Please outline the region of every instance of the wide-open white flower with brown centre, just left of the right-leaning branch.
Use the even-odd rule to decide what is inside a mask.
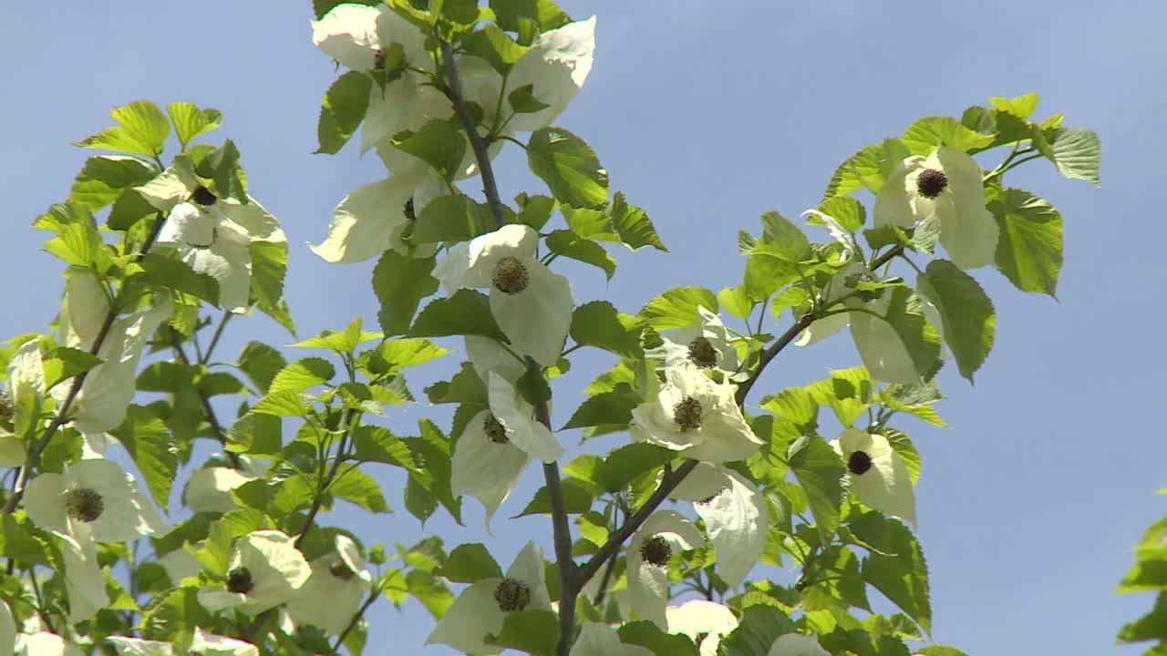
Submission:
[[[692,363],[665,368],[665,384],[633,410],[633,439],[705,462],[753,455],[762,440],[734,400],[734,385],[710,381]]]

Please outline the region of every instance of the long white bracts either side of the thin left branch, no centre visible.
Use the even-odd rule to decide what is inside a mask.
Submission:
[[[70,267],[69,281],[61,301],[58,330],[61,344],[92,350],[109,312],[106,291],[91,270]],[[149,309],[142,309],[113,321],[97,356],[103,360],[85,376],[81,393],[74,400],[72,425],[86,435],[112,431],[126,418],[126,407],[134,396],[138,361],[146,343],[170,316],[172,301],[165,298]],[[60,403],[72,382],[53,388]]]

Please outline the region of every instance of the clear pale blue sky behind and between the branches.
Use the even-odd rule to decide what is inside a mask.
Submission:
[[[993,353],[976,386],[955,371],[942,375],[949,398],[937,409],[951,428],[900,426],[923,456],[918,535],[938,642],[974,656],[1138,652],[1113,647],[1113,636],[1152,598],[1112,591],[1144,528],[1167,511],[1167,497],[1153,494],[1167,486],[1159,414],[1167,354],[1159,196],[1167,5],[573,0],[565,7],[576,19],[599,14],[599,26],[592,77],[558,123],[596,149],[613,190],[643,207],[671,249],[617,252],[612,285],[598,270],[565,268],[578,302],[608,298],[635,312],[673,286],[735,284],[739,229],[756,232],[757,216],[769,209],[796,217],[815,207],[839,162],[917,117],[959,116],[990,96],[1037,91],[1039,117],[1064,112],[1068,126],[1098,131],[1100,189],[1063,180],[1044,161],[1008,176],[1009,186],[1048,197],[1063,214],[1060,302],[978,271],[997,306]],[[56,312],[63,266],[28,224],[67,197],[93,154],[69,142],[105,127],[113,105],[139,98],[224,112],[210,139],[237,142],[252,195],[288,233],[287,289],[301,339],[357,315],[376,326],[373,263],[327,265],[305,246],[324,237],[347,191],[384,176],[379,161],[359,159],[355,147],[310,154],[320,96],[335,75],[312,46],[310,13],[307,0],[6,4],[0,274],[8,309],[0,334],[44,329]],[[516,151],[497,160],[504,197],[539,189]],[[256,316],[231,323],[219,356],[233,357],[250,339],[293,341]],[[587,357],[557,388],[560,424],[582,385],[609,364]],[[857,363],[845,336],[791,349],[752,400]],[[415,393],[448,370],[415,377]],[[421,405],[392,425],[408,430],[421,416],[448,425],[445,411]],[[576,437],[560,439],[574,446]],[[598,446],[619,444],[606,439]],[[414,542],[422,532],[400,503],[401,477],[387,468],[376,474],[397,514],[340,509],[322,522],[355,528],[366,542]],[[464,528],[439,517],[426,529],[448,546],[490,539],[504,565],[527,536],[543,535],[550,546],[546,519],[505,519],[538,479],[537,468],[527,472],[499,511],[494,538],[474,500],[464,503]],[[420,647],[432,624],[419,605],[403,610],[373,607],[369,654],[448,654]]]

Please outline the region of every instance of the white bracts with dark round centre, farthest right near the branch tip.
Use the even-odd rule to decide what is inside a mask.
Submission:
[[[980,166],[948,146],[903,160],[875,195],[875,225],[931,221],[939,222],[941,244],[953,264],[993,264],[999,229],[985,208]]]

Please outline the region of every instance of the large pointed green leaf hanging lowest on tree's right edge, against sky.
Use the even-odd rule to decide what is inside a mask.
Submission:
[[[931,630],[928,565],[915,536],[900,522],[879,512],[852,514],[847,526],[875,550],[864,560],[864,580],[883,593],[924,631]]]

